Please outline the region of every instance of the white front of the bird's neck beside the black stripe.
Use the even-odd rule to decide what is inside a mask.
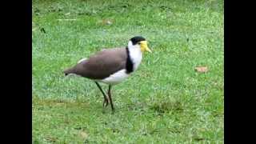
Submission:
[[[142,50],[140,46],[133,45],[132,42],[128,43],[130,52],[130,59],[134,63],[134,71],[138,69],[139,64],[142,62]]]

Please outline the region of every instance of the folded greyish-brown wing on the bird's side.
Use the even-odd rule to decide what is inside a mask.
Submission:
[[[72,69],[74,74],[91,79],[109,77],[118,70],[126,68],[126,49],[106,49],[94,54],[84,62],[78,63]]]

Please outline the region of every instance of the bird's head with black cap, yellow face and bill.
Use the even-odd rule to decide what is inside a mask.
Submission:
[[[140,49],[142,52],[148,51],[152,53],[150,48],[147,46],[146,39],[141,36],[136,36],[134,38],[130,38],[128,42],[129,48]]]

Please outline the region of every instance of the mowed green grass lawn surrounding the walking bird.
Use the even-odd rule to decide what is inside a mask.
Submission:
[[[223,143],[222,1],[34,0],[32,25],[34,143]],[[135,35],[153,54],[113,87],[114,114],[94,82],[62,74]]]

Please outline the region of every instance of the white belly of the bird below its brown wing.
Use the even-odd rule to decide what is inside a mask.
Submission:
[[[129,77],[129,74],[126,74],[126,70],[119,70],[118,72],[110,75],[110,77],[108,78],[104,78],[102,80],[96,80],[96,81],[104,82],[109,85],[115,85],[124,81],[128,77]]]

